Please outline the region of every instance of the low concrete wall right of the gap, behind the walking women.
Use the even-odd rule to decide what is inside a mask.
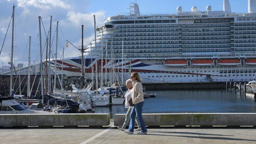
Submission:
[[[146,126],[256,126],[256,113],[142,114]],[[114,126],[122,126],[125,114],[114,115]]]

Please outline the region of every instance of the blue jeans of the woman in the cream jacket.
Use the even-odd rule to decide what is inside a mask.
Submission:
[[[132,107],[132,112],[130,115],[130,125],[129,125],[129,131],[134,131],[134,124],[135,124],[135,115],[138,117],[138,120],[140,121],[140,127],[141,132],[148,132],[146,125],[144,123],[144,120],[142,118],[142,106],[144,102],[139,102],[138,104],[135,104],[134,107]]]

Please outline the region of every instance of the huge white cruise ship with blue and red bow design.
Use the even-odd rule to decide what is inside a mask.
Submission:
[[[106,18],[96,31],[84,47],[88,79],[98,72],[112,83],[138,72],[142,82],[229,82],[250,81],[256,73],[256,0],[248,0],[247,13],[232,12],[223,0],[219,11],[178,6],[176,14],[141,14],[134,2],[129,13]],[[81,56],[56,62],[63,74],[81,76]]]

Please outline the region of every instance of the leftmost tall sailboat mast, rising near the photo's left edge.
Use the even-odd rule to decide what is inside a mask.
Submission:
[[[11,76],[10,76],[10,95],[12,95],[12,71],[13,71],[13,38],[14,38],[14,8],[12,7],[12,55],[11,55]]]

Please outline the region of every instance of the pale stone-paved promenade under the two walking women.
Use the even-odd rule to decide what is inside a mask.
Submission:
[[[115,127],[0,129],[0,144],[46,143],[256,144],[256,128],[148,128],[147,135],[128,135]]]

